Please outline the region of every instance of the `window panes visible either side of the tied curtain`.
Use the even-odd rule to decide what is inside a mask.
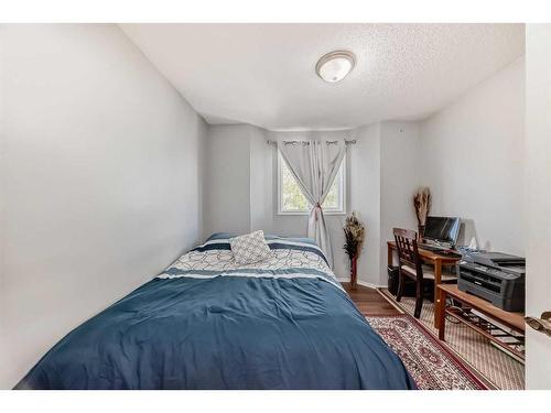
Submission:
[[[279,214],[281,215],[302,215],[310,214],[312,206],[296,184],[294,176],[289,171],[285,161],[278,153],[278,198]],[[322,207],[325,214],[346,214],[345,208],[345,171],[346,157],[343,159],[337,176],[331,186],[329,193],[325,198]]]

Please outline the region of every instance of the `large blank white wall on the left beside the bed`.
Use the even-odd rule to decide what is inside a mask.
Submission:
[[[199,238],[206,126],[114,25],[0,29],[0,387]]]

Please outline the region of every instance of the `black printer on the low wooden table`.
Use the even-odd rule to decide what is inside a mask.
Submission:
[[[508,312],[525,311],[526,259],[501,252],[464,251],[457,287]]]

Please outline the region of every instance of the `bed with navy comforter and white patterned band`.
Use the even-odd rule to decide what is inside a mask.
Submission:
[[[15,389],[414,389],[309,239],[217,233],[75,328]]]

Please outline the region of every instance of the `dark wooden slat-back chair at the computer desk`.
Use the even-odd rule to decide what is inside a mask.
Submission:
[[[423,261],[419,256],[417,244],[417,232],[411,229],[395,228],[395,240],[398,250],[399,262],[399,283],[396,301],[400,301],[403,295],[404,278],[409,278],[415,282],[415,311],[413,316],[421,316],[423,307],[423,289],[424,281],[432,280],[434,282],[434,272],[429,269],[423,269]],[[442,282],[455,282],[456,276],[451,274],[442,274]]]

